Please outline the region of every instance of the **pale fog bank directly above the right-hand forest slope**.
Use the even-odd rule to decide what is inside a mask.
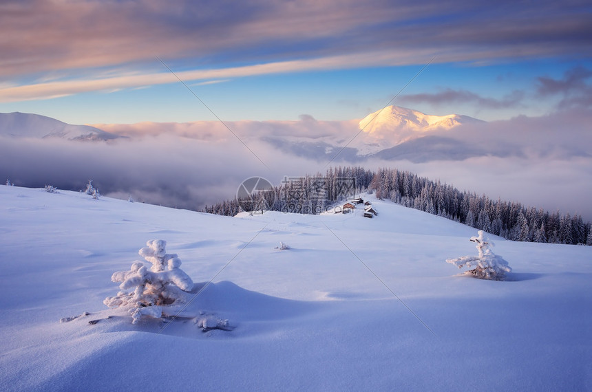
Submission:
[[[381,162],[385,167],[385,162]],[[462,161],[432,161],[412,164],[388,162],[391,166],[452,184],[491,199],[519,202],[550,212],[581,214],[592,221],[590,158],[533,160],[520,157],[470,157]]]

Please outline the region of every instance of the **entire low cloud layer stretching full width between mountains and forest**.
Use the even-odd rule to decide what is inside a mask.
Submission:
[[[591,121],[590,111],[570,110],[470,124],[400,144],[398,155],[362,159],[348,150],[332,165],[397,167],[494,199],[592,220]],[[219,122],[113,124],[101,128],[129,138],[83,143],[2,137],[0,177],[22,186],[70,189],[93,179],[106,195],[195,209],[233,198],[254,175],[279,184],[284,176],[323,173],[335,149],[357,132],[355,123],[310,116],[229,126],[257,157]]]

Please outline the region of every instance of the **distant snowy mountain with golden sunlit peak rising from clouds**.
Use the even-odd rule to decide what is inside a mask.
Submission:
[[[467,151],[458,151],[459,144],[453,140],[452,130],[470,126],[480,128],[487,122],[462,116],[447,114],[435,116],[412,109],[389,106],[368,114],[359,122],[317,122],[309,121],[306,130],[312,130],[315,137],[310,137],[302,129],[293,127],[294,132],[285,134],[262,135],[261,140],[271,144],[275,149],[315,160],[332,160],[339,153],[339,160],[361,162],[369,157],[385,160],[410,159],[413,162],[424,162],[431,159],[432,152],[440,159],[454,159],[456,155],[466,157]],[[461,127],[462,126],[462,127]],[[321,132],[320,130],[324,132]],[[316,131],[316,133],[315,133]],[[255,130],[253,130],[253,133]],[[320,136],[319,136],[320,135]],[[423,142],[430,139],[429,142]],[[409,144],[409,148],[407,147]],[[430,154],[416,150],[416,146],[426,144]],[[440,147],[445,147],[440,151]],[[476,149],[471,156],[478,155]],[[421,156],[416,156],[417,153]]]

